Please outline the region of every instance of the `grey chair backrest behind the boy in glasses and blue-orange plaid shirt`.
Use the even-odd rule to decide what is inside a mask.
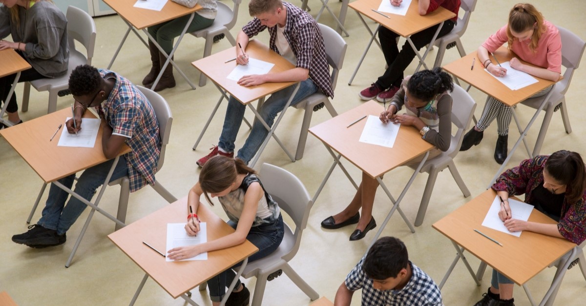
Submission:
[[[165,149],[169,143],[169,137],[171,135],[171,125],[173,124],[173,115],[171,114],[171,108],[160,94],[155,93],[148,88],[137,86],[138,89],[145,95],[147,100],[151,103],[153,110],[155,111],[156,121],[159,121],[159,135],[161,137],[161,155],[159,155],[159,162],[156,165],[156,171],[158,172],[163,166],[165,161]]]

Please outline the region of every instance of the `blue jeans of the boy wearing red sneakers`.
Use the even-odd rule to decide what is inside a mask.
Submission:
[[[297,87],[297,84],[271,94],[271,97],[265,101],[260,110],[257,110],[258,114],[261,115],[269,127],[272,127],[272,123],[275,120],[275,117],[277,117],[277,114],[285,108],[285,104],[287,104],[295,87]],[[311,79],[302,81],[297,94],[295,94],[295,97],[291,101],[291,106],[301,102],[304,98],[316,91],[318,91],[318,87],[315,85],[314,81]],[[240,103],[236,98],[230,97],[230,100],[228,100],[228,108],[226,110],[226,118],[224,118],[222,135],[220,135],[220,141],[218,142],[218,146],[226,152],[234,151],[234,141],[236,141],[236,136],[240,130],[245,110],[246,106],[244,104]],[[250,159],[253,159],[261,144],[263,144],[267,135],[268,130],[255,118],[250,135],[246,138],[244,146],[238,151],[237,157],[248,164]]]

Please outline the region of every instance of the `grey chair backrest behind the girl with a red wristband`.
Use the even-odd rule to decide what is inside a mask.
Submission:
[[[260,168],[260,179],[265,191],[277,201],[282,211],[286,212],[295,223],[295,245],[291,251],[282,256],[284,260],[291,260],[301,243],[301,233],[307,226],[309,211],[313,206],[311,196],[297,176],[291,172],[271,164],[263,164]]]

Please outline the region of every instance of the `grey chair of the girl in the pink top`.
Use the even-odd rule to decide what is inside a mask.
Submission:
[[[572,132],[570,118],[568,118],[568,110],[566,109],[565,92],[568,90],[568,87],[570,87],[574,70],[578,69],[578,66],[580,65],[580,60],[584,54],[586,43],[567,29],[561,28],[560,26],[558,26],[557,29],[560,31],[561,36],[561,64],[565,67],[564,79],[556,83],[556,86],[552,89],[553,93],[551,93],[550,99],[546,101],[547,104],[543,107],[543,110],[546,111],[546,115],[543,117],[543,123],[541,123],[539,135],[537,136],[537,141],[533,148],[533,156],[539,155],[539,151],[541,151],[541,145],[546,137],[551,116],[553,116],[557,106],[559,106],[561,110],[561,120],[564,122],[565,132],[568,134]],[[529,98],[523,101],[522,104],[537,109],[541,106],[543,99],[546,97],[547,95],[543,97]]]

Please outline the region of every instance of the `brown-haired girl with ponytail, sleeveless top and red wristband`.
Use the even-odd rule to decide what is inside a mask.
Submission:
[[[261,259],[277,250],[284,235],[281,211],[277,202],[264,191],[255,171],[243,161],[217,155],[203,166],[199,181],[189,191],[188,196],[188,222],[185,231],[191,236],[199,232],[199,219],[191,212],[197,212],[202,194],[210,205],[213,205],[211,198],[218,198],[230,219],[228,224],[236,232],[197,246],[171,249],[168,254],[170,259],[188,259],[207,251],[236,246],[245,240],[258,247],[258,252],[248,257],[249,261]],[[240,263],[232,268],[238,266]],[[212,305],[220,305],[226,294],[226,287],[236,277],[232,268],[207,281]],[[249,298],[250,292],[238,281],[226,305],[248,305]]]

